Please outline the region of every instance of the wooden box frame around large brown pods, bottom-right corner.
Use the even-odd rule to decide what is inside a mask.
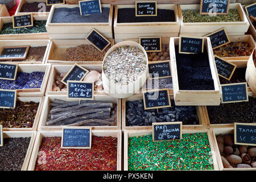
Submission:
[[[220,171],[256,171],[256,168],[224,168],[222,160],[221,160],[221,155],[220,155],[220,150],[218,149],[218,144],[217,144],[217,139],[216,135],[225,135],[225,134],[234,134],[234,127],[230,128],[223,128],[223,129],[210,129],[210,135],[212,135],[212,140],[216,152],[216,157],[218,161],[218,168]]]

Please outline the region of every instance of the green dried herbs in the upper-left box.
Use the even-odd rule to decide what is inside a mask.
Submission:
[[[46,21],[34,21],[33,27],[13,28],[13,23],[5,23],[0,34],[34,34],[46,32]]]

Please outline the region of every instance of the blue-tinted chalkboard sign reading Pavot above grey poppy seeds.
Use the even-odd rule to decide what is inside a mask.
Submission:
[[[79,1],[80,15],[90,15],[94,13],[101,13],[100,0],[85,0]]]

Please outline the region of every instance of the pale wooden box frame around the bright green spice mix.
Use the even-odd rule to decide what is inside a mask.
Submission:
[[[212,152],[212,159],[213,159],[213,168],[214,171],[218,171],[218,163],[216,158],[216,152],[214,150],[213,140],[210,135],[209,130],[207,129],[197,129],[197,130],[182,130],[183,134],[187,133],[207,133],[208,140],[210,144],[210,151]],[[128,171],[128,138],[130,137],[139,137],[142,135],[152,135],[152,130],[140,130],[140,131],[129,131],[125,130],[123,134],[123,170]]]

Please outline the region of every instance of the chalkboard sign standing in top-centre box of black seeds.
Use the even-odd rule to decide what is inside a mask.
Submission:
[[[156,1],[135,2],[135,16],[157,16],[158,6]]]

